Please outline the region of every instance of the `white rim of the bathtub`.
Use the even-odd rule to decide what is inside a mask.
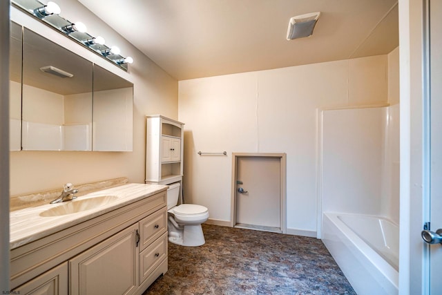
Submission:
[[[387,280],[398,289],[399,285],[399,272],[390,265],[385,259],[383,259],[372,247],[369,247],[367,243],[358,236],[352,229],[350,229],[343,220],[340,220],[338,216],[347,215],[347,216],[365,216],[372,218],[382,218],[384,220],[389,220],[384,216],[374,216],[368,214],[356,214],[356,213],[343,213],[343,212],[323,212],[323,222],[325,222],[325,218],[328,218],[330,222],[332,222],[340,231],[341,234],[347,238],[347,241],[352,244],[352,246],[356,247],[361,251],[361,254],[369,260],[370,263],[378,272],[380,272]],[[389,220],[394,225],[397,225],[392,220]],[[324,236],[324,233],[323,233]],[[323,239],[323,236],[321,239]],[[337,261],[336,261],[337,262]]]

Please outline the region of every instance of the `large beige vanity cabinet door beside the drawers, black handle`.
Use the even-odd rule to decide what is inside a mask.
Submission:
[[[138,287],[136,231],[132,225],[69,260],[70,294],[132,294]]]

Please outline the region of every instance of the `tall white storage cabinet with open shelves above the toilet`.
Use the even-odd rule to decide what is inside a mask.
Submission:
[[[146,116],[146,183],[182,184],[183,144],[184,123]]]

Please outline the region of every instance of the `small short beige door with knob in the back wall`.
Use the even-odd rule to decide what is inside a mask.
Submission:
[[[238,157],[236,227],[281,232],[280,158]]]

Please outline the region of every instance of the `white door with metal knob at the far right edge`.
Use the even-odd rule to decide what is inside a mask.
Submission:
[[[430,229],[442,236],[442,1],[430,1]],[[442,245],[430,245],[430,294],[442,294]]]

